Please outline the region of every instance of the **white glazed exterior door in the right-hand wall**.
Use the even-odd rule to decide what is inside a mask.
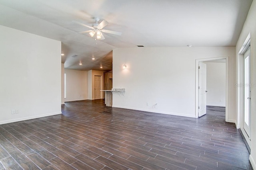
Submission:
[[[250,48],[244,53],[244,130],[250,139],[251,123]]]

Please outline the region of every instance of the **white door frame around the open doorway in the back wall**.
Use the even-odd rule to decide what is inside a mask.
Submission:
[[[215,57],[215,58],[207,58],[207,59],[196,59],[196,107],[195,107],[195,116],[198,118],[198,63],[203,61],[212,61],[212,60],[222,60],[226,59],[226,118],[225,121],[229,121],[229,108],[228,108],[228,56],[227,57]]]

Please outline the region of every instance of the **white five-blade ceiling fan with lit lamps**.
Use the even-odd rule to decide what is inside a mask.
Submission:
[[[91,37],[95,36],[95,40],[96,39],[101,39],[101,40],[105,39],[102,32],[115,34],[115,35],[121,35],[122,34],[121,32],[102,29],[103,27],[108,25],[107,21],[103,20],[101,23],[98,23],[98,21],[100,21],[100,18],[98,18],[98,17],[94,17],[94,20],[95,20],[95,23],[93,23],[92,26],[86,25],[86,24],[78,22],[78,21],[73,21],[73,22],[92,29],[92,30],[88,30],[88,31],[78,32],[78,33],[89,33]]]

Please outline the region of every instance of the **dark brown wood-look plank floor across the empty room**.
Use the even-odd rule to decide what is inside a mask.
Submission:
[[[195,119],[67,102],[62,115],[0,125],[0,169],[252,170],[224,111]]]

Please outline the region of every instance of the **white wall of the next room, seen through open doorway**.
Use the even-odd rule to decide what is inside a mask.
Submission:
[[[226,63],[206,63],[206,105],[226,106]]]

